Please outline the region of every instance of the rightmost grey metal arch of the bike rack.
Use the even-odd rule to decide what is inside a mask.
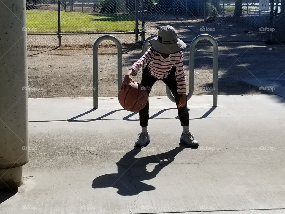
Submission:
[[[187,99],[189,100],[194,92],[194,60],[195,60],[195,46],[200,40],[209,40],[214,48],[213,53],[213,106],[218,105],[218,58],[219,58],[219,46],[214,37],[208,34],[201,34],[194,38],[190,46],[190,62],[189,62],[189,93]]]

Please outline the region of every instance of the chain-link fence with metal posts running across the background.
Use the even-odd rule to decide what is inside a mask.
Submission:
[[[285,0],[259,1],[27,0],[28,45],[92,45],[102,34],[135,43],[166,24],[187,42],[202,33],[221,42],[283,41]]]

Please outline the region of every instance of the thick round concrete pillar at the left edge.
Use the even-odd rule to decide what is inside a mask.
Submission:
[[[26,1],[0,1],[0,189],[21,184],[29,162]]]

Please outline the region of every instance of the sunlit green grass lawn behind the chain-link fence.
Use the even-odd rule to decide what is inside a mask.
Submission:
[[[27,10],[27,33],[57,33],[57,11]],[[60,12],[62,33],[134,31],[130,15]]]

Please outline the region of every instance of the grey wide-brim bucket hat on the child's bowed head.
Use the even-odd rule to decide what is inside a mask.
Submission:
[[[149,40],[151,47],[161,54],[175,54],[186,48],[186,44],[178,38],[174,27],[165,25],[159,28],[158,36]]]

